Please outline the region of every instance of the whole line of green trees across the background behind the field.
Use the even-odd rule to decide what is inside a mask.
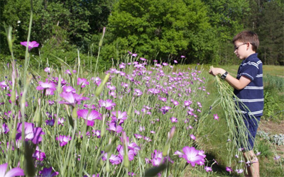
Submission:
[[[31,14],[30,0],[0,0],[1,55],[10,60],[5,28],[13,27],[14,52],[21,62]],[[186,63],[237,64],[231,39],[241,30],[258,33],[258,57],[284,64],[283,0],[33,0],[31,63],[58,64],[57,57],[91,63],[107,27],[99,67],[127,53],[147,59],[187,58]],[[92,61],[93,60],[93,61]]]

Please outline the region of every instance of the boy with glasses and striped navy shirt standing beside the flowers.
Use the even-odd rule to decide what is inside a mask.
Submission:
[[[222,68],[212,68],[209,74],[213,76],[221,74],[221,78],[234,87],[234,94],[249,108],[249,110],[241,108],[244,122],[251,133],[248,137],[249,148],[245,148],[246,152],[243,154],[246,161],[253,162],[251,166],[247,166],[248,174],[245,175],[259,176],[258,159],[252,150],[258,122],[263,115],[263,70],[262,62],[256,53],[259,45],[258,35],[245,30],[233,38],[233,43],[234,54],[243,60],[236,78]]]

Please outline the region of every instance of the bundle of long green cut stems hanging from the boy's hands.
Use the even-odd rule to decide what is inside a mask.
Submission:
[[[241,110],[240,108],[243,107],[246,108],[246,110],[249,109],[244,103],[239,101],[239,98],[237,98],[236,95],[234,95],[232,87],[226,81],[220,79],[219,76],[215,77],[215,85],[219,98],[214,102],[216,105],[212,105],[212,107],[214,108],[217,105],[221,105],[224,111],[226,125],[229,130],[228,143],[226,145],[230,154],[228,156],[228,161],[231,166],[232,156],[238,155],[239,157],[242,157],[243,151],[246,152],[246,149],[251,149],[250,144],[248,143],[248,138],[251,134],[246,128],[244,115],[241,113],[244,112],[244,110]],[[254,116],[250,116],[250,118],[256,119]],[[244,149],[244,147],[246,148]],[[239,163],[236,162],[236,164],[238,168]]]

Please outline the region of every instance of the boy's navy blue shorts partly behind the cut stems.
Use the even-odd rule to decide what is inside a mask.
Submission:
[[[248,147],[244,147],[244,151],[251,151],[253,149],[254,140],[256,138],[256,130],[258,129],[259,121],[261,120],[261,116],[259,117],[253,117],[249,116],[248,114],[243,114],[244,116],[244,124],[246,125],[246,128],[249,130],[248,135]]]

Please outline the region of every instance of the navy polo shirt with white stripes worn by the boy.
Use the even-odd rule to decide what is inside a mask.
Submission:
[[[257,53],[250,55],[241,62],[236,79],[240,79],[241,76],[251,79],[251,82],[244,89],[239,91],[234,89],[234,94],[239,98],[239,101],[246,105],[239,104],[241,113],[249,113],[249,115],[255,117],[263,115],[263,70],[262,62],[258,59]]]

